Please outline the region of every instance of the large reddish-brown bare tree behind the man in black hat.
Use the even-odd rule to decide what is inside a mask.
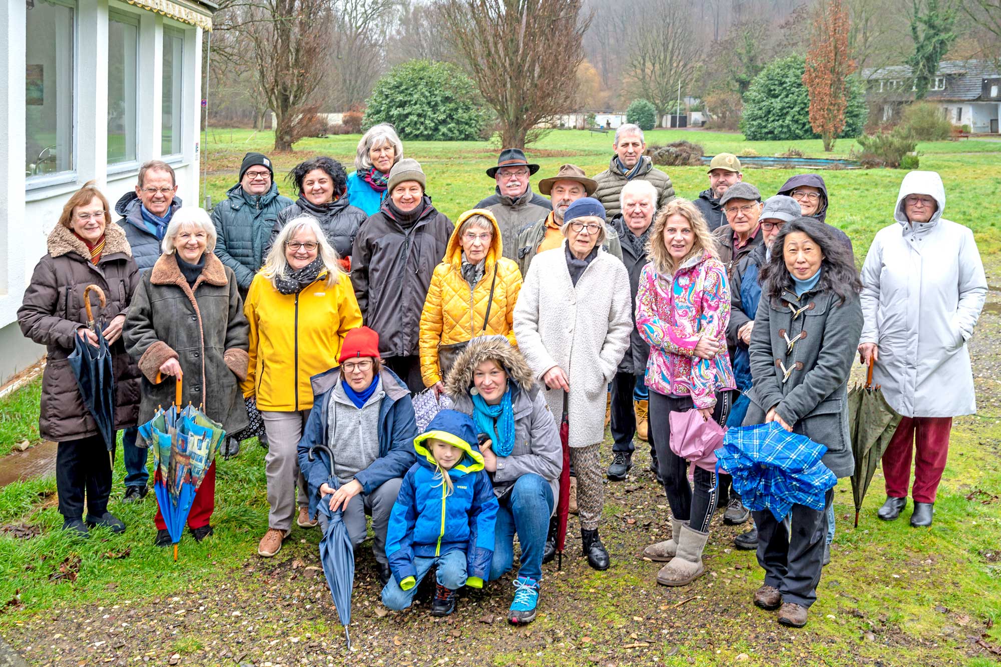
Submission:
[[[441,18],[505,146],[541,136],[540,123],[574,106],[591,17],[582,0],[443,0]]]

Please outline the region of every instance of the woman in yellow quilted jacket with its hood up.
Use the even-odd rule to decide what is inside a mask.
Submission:
[[[522,271],[502,252],[500,228],[492,213],[473,208],[458,216],[420,313],[418,348],[425,387],[443,392],[452,363],[478,336],[500,335],[516,345],[512,323]]]

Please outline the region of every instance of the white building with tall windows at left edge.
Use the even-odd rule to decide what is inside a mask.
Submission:
[[[169,162],[198,200],[208,0],[6,0],[0,6],[0,385],[44,349],[17,309],[63,203],[88,180],[114,202]],[[112,215],[112,219],[117,219]]]

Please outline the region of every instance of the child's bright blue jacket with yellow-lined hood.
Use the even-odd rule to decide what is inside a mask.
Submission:
[[[430,439],[465,453],[448,471],[450,495],[425,445]],[[481,588],[489,574],[498,505],[475,443],[472,418],[454,410],[439,412],[413,440],[417,463],[403,477],[385,540],[389,568],[403,590],[413,586],[414,557],[434,558],[461,550],[466,558],[466,586]]]

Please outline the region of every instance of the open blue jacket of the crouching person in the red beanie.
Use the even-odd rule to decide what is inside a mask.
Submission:
[[[410,391],[388,369],[382,369],[380,378],[385,397],[378,409],[378,459],[354,476],[365,495],[387,480],[403,477],[414,460],[413,439],[417,435],[417,423],[413,416]],[[324,483],[334,486],[327,426],[330,393],[340,382],[340,368],[315,375],[309,382],[313,389],[313,409],[302,430],[302,439],[296,453],[299,470],[309,491],[309,516],[314,517],[316,503],[319,502],[319,488]]]

